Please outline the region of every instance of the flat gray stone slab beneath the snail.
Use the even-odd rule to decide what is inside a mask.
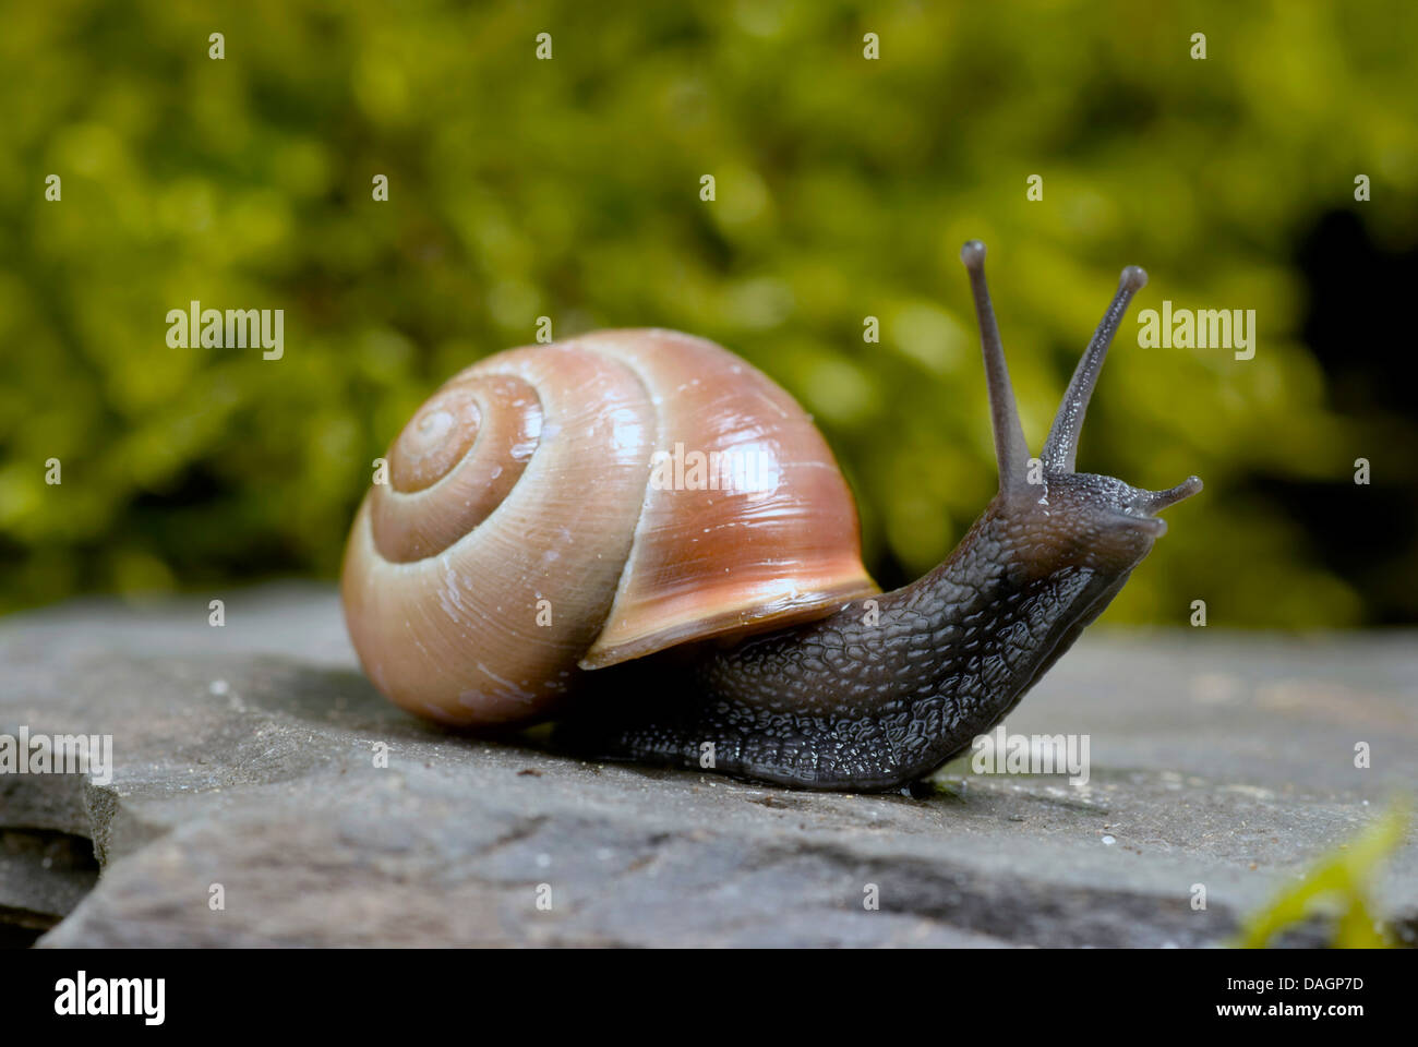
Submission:
[[[1418,780],[1412,634],[1092,631],[1007,722],[1089,735],[1088,786],[966,759],[912,799],[445,733],[363,678],[332,590],[225,599],[223,628],[206,597],[0,621],[0,733],[112,733],[115,762],[108,785],[0,775],[0,925],[52,925],[48,946],[1217,945]],[[1414,843],[1378,901],[1418,926]]]

